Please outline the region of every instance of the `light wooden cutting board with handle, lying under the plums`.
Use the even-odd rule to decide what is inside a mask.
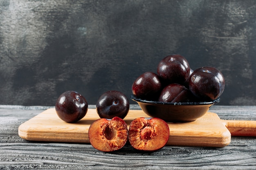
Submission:
[[[142,110],[129,110],[126,123],[137,117],[148,117]],[[96,109],[88,109],[83,119],[66,123],[50,108],[21,124],[18,134],[29,141],[54,141],[89,143],[90,124],[100,117]],[[224,147],[231,135],[256,136],[256,121],[221,120],[216,113],[207,112],[203,117],[188,123],[168,123],[170,137],[167,146]]]

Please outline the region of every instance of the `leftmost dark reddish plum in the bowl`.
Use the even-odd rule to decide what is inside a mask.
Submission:
[[[153,72],[141,74],[132,84],[132,94],[141,99],[155,100],[162,90],[159,76]]]

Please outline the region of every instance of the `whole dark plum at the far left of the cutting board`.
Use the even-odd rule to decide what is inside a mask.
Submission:
[[[83,95],[75,91],[65,91],[58,97],[55,110],[63,121],[76,122],[86,115],[88,103]]]

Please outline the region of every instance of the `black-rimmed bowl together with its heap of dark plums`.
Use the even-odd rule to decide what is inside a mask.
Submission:
[[[224,88],[224,76],[217,68],[192,70],[182,55],[168,55],[159,62],[157,73],[145,72],[135,79],[131,99],[150,117],[191,122],[220,102]]]

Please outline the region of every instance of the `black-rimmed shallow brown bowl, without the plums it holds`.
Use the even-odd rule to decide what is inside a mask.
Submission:
[[[202,117],[220,98],[208,102],[165,103],[139,99],[131,95],[131,99],[139,104],[150,117],[158,117],[167,122],[190,122]]]

